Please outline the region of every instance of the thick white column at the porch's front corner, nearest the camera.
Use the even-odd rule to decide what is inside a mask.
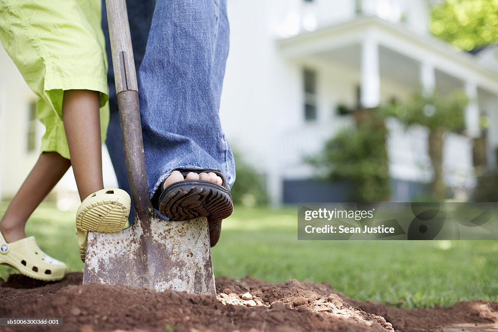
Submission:
[[[362,43],[361,105],[374,108],[380,103],[380,74],[378,43],[374,35],[368,34]]]

